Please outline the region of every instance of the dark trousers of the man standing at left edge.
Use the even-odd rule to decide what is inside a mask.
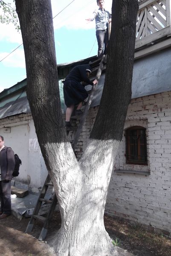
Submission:
[[[0,181],[0,211],[11,214],[11,180],[8,183]]]

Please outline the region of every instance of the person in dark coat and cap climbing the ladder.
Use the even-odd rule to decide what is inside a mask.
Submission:
[[[72,127],[70,123],[70,118],[75,105],[78,105],[75,114],[81,114],[82,102],[88,97],[88,93],[81,82],[87,84],[97,84],[98,81],[95,79],[93,82],[90,81],[88,76],[91,74],[91,67],[88,64],[75,66],[68,76],[66,77],[64,83],[64,101],[67,106],[66,111],[66,127]]]

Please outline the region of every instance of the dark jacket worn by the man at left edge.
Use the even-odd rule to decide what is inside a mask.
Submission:
[[[12,148],[5,146],[0,151],[0,170],[2,180],[11,180],[14,172],[15,158]]]

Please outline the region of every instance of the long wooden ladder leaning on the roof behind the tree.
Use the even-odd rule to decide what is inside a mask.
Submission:
[[[101,60],[94,61],[90,64],[90,66],[93,66],[92,67],[92,74],[96,72],[96,79],[98,81],[100,79],[101,72],[104,68],[105,63],[106,63],[106,56],[103,55]],[[98,65],[98,67],[97,67],[97,65]],[[73,150],[75,150],[76,144],[77,144],[79,136],[81,134],[81,131],[82,131],[82,128],[83,128],[88,110],[90,108],[90,105],[91,105],[96,87],[97,87],[97,85],[93,85],[92,90],[90,91],[90,94],[89,94],[87,103],[85,105],[83,114],[81,116],[79,116],[80,122],[79,122],[78,127],[67,128],[67,134],[69,134],[70,131],[74,131],[74,130],[76,131],[75,136],[74,136],[74,140],[73,140],[73,143],[72,143]],[[72,119],[78,119],[78,116],[72,116]],[[57,197],[56,197],[55,194],[54,194],[52,199],[45,199],[46,198],[46,192],[47,192],[47,189],[48,189],[49,186],[53,187],[53,184],[52,184],[52,181],[50,179],[50,176],[48,175],[46,177],[45,183],[44,183],[43,188],[41,190],[41,193],[39,195],[39,198],[38,198],[38,201],[36,203],[35,209],[32,213],[32,217],[31,217],[31,219],[29,221],[29,224],[28,224],[28,226],[26,228],[26,231],[25,231],[25,233],[29,233],[29,232],[32,231],[36,219],[41,221],[43,223],[43,227],[42,227],[42,230],[41,230],[41,234],[38,238],[38,240],[40,240],[40,241],[42,241],[46,238],[50,218],[52,217],[52,214],[53,214],[53,212],[55,210],[55,207],[58,203],[58,200],[57,200]],[[41,209],[42,203],[49,204],[49,209],[48,209],[48,212],[46,214],[46,217],[42,216],[44,214],[41,215],[39,213],[39,210]]]

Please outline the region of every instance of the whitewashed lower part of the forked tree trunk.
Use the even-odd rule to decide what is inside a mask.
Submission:
[[[66,159],[68,154],[65,157],[57,152],[55,159],[57,157],[61,164],[56,166],[58,171],[55,170],[55,177],[52,177],[61,199],[62,225],[54,239],[57,255],[113,255],[114,247],[104,228],[103,217],[118,145],[119,141],[90,140],[79,163],[73,160],[72,149],[68,152],[71,156],[69,161]],[[59,147],[70,148],[70,145],[61,144]]]

